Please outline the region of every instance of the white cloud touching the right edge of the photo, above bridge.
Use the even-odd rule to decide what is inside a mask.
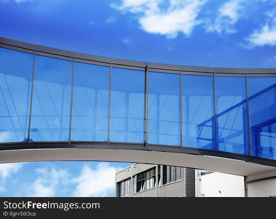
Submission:
[[[248,48],[256,46],[276,45],[276,9],[267,13],[268,19],[260,29],[255,29],[245,40]]]

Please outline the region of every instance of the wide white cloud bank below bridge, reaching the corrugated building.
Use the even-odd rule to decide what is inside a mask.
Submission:
[[[38,177],[32,183],[24,185],[22,195],[32,197],[52,197],[65,194],[66,196],[98,196],[110,195],[115,187],[115,169],[109,163],[99,163],[96,168],[85,164],[81,172],[74,178],[66,169],[55,167],[38,168]],[[1,191],[1,187],[0,187]]]

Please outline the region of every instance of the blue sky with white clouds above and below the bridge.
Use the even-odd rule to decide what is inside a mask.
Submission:
[[[0,0],[0,36],[138,61],[276,67],[275,0]],[[0,165],[0,196],[114,196],[130,163]],[[104,173],[104,174],[103,174]]]

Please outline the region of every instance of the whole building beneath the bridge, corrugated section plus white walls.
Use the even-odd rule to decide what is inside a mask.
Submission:
[[[135,163],[123,170],[116,170],[115,197],[274,197],[276,195],[275,179],[247,181],[246,187],[244,180],[243,176],[233,174]]]

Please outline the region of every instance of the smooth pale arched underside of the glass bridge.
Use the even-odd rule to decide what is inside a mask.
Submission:
[[[131,146],[131,145],[130,145]],[[210,155],[122,148],[40,148],[3,150],[0,163],[36,161],[112,161],[191,167],[258,178],[276,175],[276,167]],[[256,176],[256,177],[254,177]]]

